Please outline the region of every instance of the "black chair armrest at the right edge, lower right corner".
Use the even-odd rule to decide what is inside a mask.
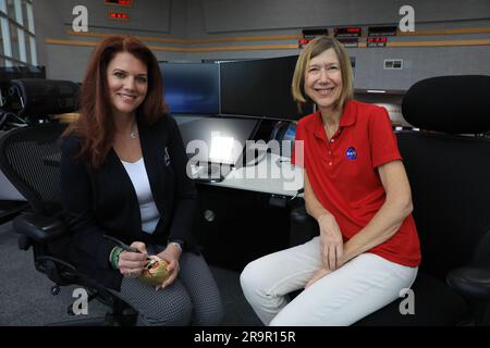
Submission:
[[[451,271],[446,276],[448,285],[465,298],[490,300],[490,269],[464,266]]]

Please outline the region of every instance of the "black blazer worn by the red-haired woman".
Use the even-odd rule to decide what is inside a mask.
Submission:
[[[139,139],[155,203],[160,220],[154,234],[142,231],[139,203],[131,178],[111,149],[98,169],[75,158],[81,141],[69,136],[62,141],[61,199],[63,216],[72,233],[71,259],[89,277],[120,289],[122,275],[109,263],[112,235],[126,244],[135,240],[167,245],[182,239],[185,249],[198,251],[191,235],[197,211],[197,191],[186,175],[187,154],[175,120],[167,114],[156,124],[138,121]]]

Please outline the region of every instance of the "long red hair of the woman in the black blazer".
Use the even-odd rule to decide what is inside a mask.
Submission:
[[[74,134],[82,141],[79,157],[98,167],[106,160],[115,134],[107,83],[107,69],[119,52],[128,52],[140,60],[148,70],[148,92],[136,110],[139,122],[151,125],[167,111],[160,67],[154,53],[131,36],[110,36],[98,45],[91,54],[81,87],[79,117],[64,133]]]

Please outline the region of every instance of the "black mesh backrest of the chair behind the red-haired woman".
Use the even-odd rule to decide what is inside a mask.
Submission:
[[[0,138],[0,167],[32,209],[44,215],[60,211],[60,135],[65,124],[13,129]]]

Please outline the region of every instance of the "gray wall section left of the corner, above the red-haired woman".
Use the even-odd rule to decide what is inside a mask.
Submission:
[[[46,66],[48,78],[82,82],[84,77],[93,47],[46,44],[47,38],[73,41],[98,40],[68,35],[68,32],[72,30],[74,18],[72,10],[78,4],[85,5],[88,10],[89,32],[157,38],[185,37],[184,1],[140,0],[134,2],[133,9],[126,9],[107,7],[99,0],[34,0],[38,61],[39,65]],[[127,23],[111,21],[107,17],[109,10],[127,12],[132,20]],[[183,59],[183,54],[177,52],[155,51],[155,54],[160,61]]]

